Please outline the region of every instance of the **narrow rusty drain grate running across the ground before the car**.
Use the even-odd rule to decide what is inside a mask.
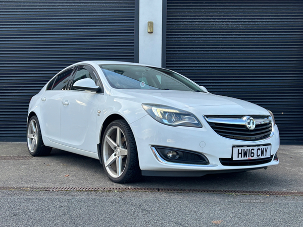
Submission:
[[[303,192],[278,191],[241,191],[241,190],[209,190],[209,189],[172,189],[172,188],[124,188],[124,187],[0,187],[0,190],[19,191],[120,191],[120,192],[203,192],[218,194],[247,194],[247,195],[297,195]]]

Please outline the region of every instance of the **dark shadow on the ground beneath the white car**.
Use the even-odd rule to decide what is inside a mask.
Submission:
[[[96,173],[99,175],[96,187],[139,187],[139,188],[171,188],[171,189],[212,189],[212,190],[271,190],[285,191],[281,187],[288,184],[281,175],[276,175],[275,166],[255,171],[209,174],[203,177],[143,177],[140,182],[116,184],[111,182],[104,172],[99,160],[54,149],[47,158],[68,163],[70,167],[81,169],[81,172]],[[94,178],[96,176],[91,176]],[[87,179],[89,183],[90,179]],[[91,179],[95,182],[96,179]],[[89,184],[90,185],[90,184]]]

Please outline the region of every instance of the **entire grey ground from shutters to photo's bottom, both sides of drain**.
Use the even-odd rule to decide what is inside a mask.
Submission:
[[[0,226],[302,226],[303,196],[196,192],[43,191],[33,187],[172,188],[303,192],[303,146],[281,146],[267,170],[198,178],[144,177],[115,184],[98,160],[54,149],[27,158],[25,143],[0,142]]]

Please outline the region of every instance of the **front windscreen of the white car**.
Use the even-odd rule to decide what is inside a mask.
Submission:
[[[203,92],[198,86],[167,69],[135,65],[99,65],[113,88]]]

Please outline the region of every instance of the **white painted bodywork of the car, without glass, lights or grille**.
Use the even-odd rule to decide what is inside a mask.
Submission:
[[[173,90],[123,90],[112,88],[98,64],[119,62],[82,62],[94,67],[103,83],[104,93],[89,91],[45,91],[46,85],[29,104],[29,111],[37,115],[43,142],[46,146],[98,159],[97,144],[104,121],[111,115],[122,116],[130,125],[136,139],[139,165],[146,171],[206,171],[254,168],[278,164],[279,161],[257,166],[223,166],[219,157],[230,158],[232,146],[271,144],[271,154],[279,148],[279,130],[275,125],[270,138],[261,141],[239,141],[216,134],[204,115],[270,115],[268,110],[235,98],[211,93]],[[134,63],[123,63],[140,65]],[[42,101],[41,99],[46,98]],[[68,103],[68,104],[66,104]],[[169,105],[193,113],[203,128],[172,127],[161,124],[147,115],[142,103]],[[100,111],[98,113],[98,110]],[[60,126],[58,126],[58,122]],[[200,146],[203,144],[204,146]],[[201,152],[211,166],[162,163],[150,146],[168,146]]]

